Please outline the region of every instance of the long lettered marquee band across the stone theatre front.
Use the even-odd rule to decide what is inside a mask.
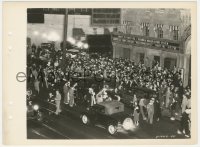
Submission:
[[[180,41],[168,39],[153,38],[133,34],[113,33],[112,42],[182,53]]]

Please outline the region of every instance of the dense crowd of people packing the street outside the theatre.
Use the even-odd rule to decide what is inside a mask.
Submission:
[[[52,98],[55,95],[56,105],[59,105],[56,114],[61,112],[61,99],[64,104],[73,107],[76,105],[76,91],[84,88],[87,88],[85,94],[89,94],[90,98],[86,99],[90,106],[104,99],[108,100],[109,88],[114,89],[114,95],[119,101],[122,96],[120,93],[130,92],[134,87],[154,90],[158,96],[150,99],[139,98],[134,94],[133,101],[130,103],[133,105],[136,125],[139,125],[140,114],[144,120],[153,124],[153,118],[156,117],[159,121],[161,111],[164,109],[168,109],[171,120],[175,120],[180,110],[182,116],[185,116],[182,118],[185,119],[185,114],[188,114],[188,109],[191,108],[191,88],[183,87],[181,71],[176,67],[161,68],[158,62],[155,62],[152,67],[146,67],[141,62],[136,64],[128,59],[112,59],[101,55],[96,58],[85,55],[71,58],[66,55],[64,60],[61,50],[52,49],[49,52],[32,46],[27,56],[27,77],[28,86],[34,89],[36,94],[45,98]],[[92,78],[95,82],[84,86],[78,80],[74,80],[80,77]],[[109,88],[105,85],[109,85]],[[103,98],[99,96],[100,94]],[[187,120],[190,120],[189,117]],[[184,123],[186,122],[183,122],[182,128]],[[183,132],[182,128],[179,133]],[[188,129],[185,133],[189,135]]]

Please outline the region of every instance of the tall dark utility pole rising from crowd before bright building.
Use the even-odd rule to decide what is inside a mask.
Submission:
[[[66,61],[66,47],[67,47],[67,28],[68,28],[68,9],[65,9],[65,16],[64,16],[64,33],[63,33],[63,66],[64,62]]]

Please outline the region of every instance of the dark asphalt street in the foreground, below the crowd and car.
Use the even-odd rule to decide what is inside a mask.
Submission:
[[[77,108],[75,107],[74,110]],[[177,139],[184,138],[177,135],[178,121],[171,121],[163,117],[153,125],[140,120],[139,127],[132,131],[120,131],[116,135],[110,135],[102,126],[84,125],[78,115],[63,109],[56,116],[47,116],[42,123],[35,120],[27,121],[28,139]]]

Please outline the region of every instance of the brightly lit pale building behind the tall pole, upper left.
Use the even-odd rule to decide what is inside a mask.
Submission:
[[[67,10],[67,37],[77,40],[83,40],[87,35],[110,34],[121,23],[121,9]],[[38,46],[54,41],[59,48],[64,36],[65,9],[28,9],[27,14],[27,37],[31,38],[31,42]]]

